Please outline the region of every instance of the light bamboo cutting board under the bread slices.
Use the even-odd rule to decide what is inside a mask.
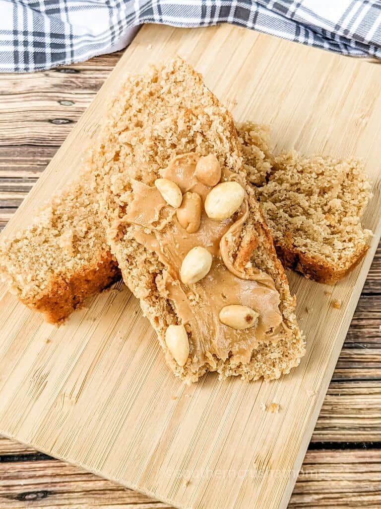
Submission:
[[[178,507],[284,509],[381,234],[381,67],[229,25],[146,26],[6,232],[78,171],[126,73],[176,53],[236,120],[270,123],[277,151],[366,159],[368,254],[335,287],[290,274],[307,354],[271,383],[184,386],[121,284],[58,328],[0,288],[0,433]],[[263,411],[272,402],[279,413]]]

